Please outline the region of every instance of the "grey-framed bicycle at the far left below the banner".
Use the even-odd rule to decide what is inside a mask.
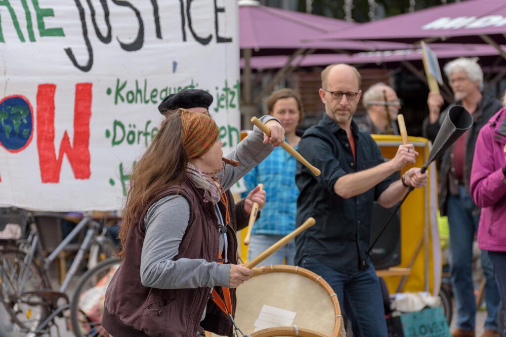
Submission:
[[[99,249],[95,250],[96,256],[90,256],[89,259],[102,260],[112,256],[115,251],[114,243],[105,236],[105,229],[87,213],[46,258],[35,221],[39,216],[63,217],[58,213],[29,213],[28,238],[21,240],[17,248],[7,246],[0,251],[0,302],[19,332],[29,336],[50,333],[52,326],[58,329],[54,319],[64,317],[64,312],[70,309],[66,291],[91,246],[96,245]],[[49,277],[51,263],[86,226],[86,235],[63,283],[58,291],[53,290]]]

